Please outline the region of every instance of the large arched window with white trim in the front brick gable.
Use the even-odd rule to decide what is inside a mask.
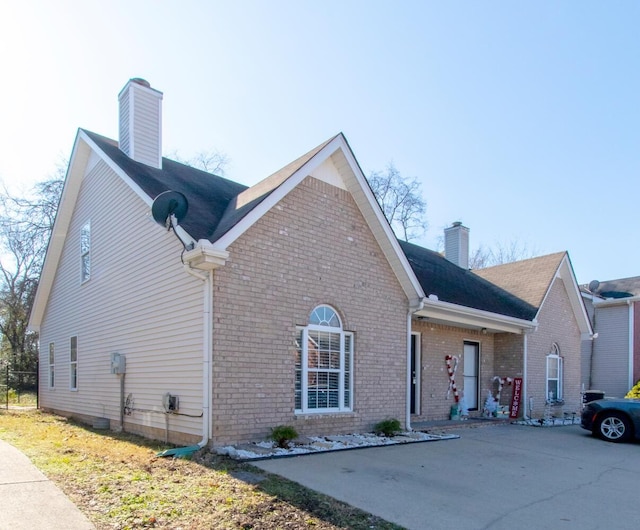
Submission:
[[[299,413],[353,408],[353,333],[336,311],[316,307],[296,334],[295,409]]]

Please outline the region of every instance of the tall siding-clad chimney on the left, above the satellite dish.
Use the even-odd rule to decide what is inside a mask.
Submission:
[[[162,92],[130,79],[118,94],[120,149],[136,162],[162,168]]]

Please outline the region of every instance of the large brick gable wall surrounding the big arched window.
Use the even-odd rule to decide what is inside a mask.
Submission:
[[[230,247],[215,271],[214,444],[370,430],[404,420],[408,303],[350,194],[307,177]],[[353,331],[354,410],[294,413],[296,326],[320,304]]]

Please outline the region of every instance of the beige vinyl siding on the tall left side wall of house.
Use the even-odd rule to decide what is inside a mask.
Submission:
[[[80,228],[89,220],[92,274],[81,283]],[[132,394],[134,408],[156,411],[126,416],[127,430],[164,432],[165,392],[179,397],[179,412],[202,412],[203,282],[183,270],[181,250],[104,162],[91,169],[41,327],[41,344],[56,343],[56,388],[41,388],[44,408],[118,424],[120,380],[110,361],[119,352],[126,356],[125,395]],[[62,361],[72,335],[78,336],[78,390],[71,393]],[[201,418],[171,416],[169,423],[180,433],[201,434]]]

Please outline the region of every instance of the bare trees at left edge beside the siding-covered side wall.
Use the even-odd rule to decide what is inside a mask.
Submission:
[[[27,324],[62,193],[62,164],[28,196],[4,186],[0,194],[0,333],[2,355],[14,370],[35,368],[37,337]]]

